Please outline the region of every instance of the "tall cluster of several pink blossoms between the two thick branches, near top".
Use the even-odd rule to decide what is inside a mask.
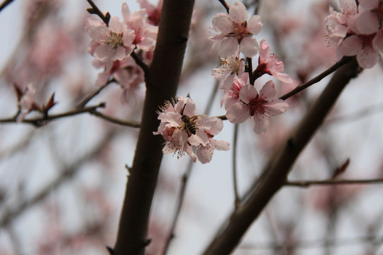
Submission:
[[[222,65],[213,69],[212,76],[222,81],[221,89],[225,92],[221,106],[225,105],[226,118],[231,123],[243,123],[253,118],[254,132],[262,134],[270,123],[270,118],[284,113],[288,104],[275,98],[277,91],[273,81],[268,81],[260,90],[255,89],[255,79],[263,74],[272,75],[284,83],[292,83],[289,75],[284,74],[284,64],[272,54],[265,40],[260,46],[252,35],[262,28],[259,16],[252,16],[247,21],[248,12],[243,4],[237,2],[231,6],[227,14],[219,13],[213,18],[213,28],[220,32],[211,37],[216,40],[213,47],[219,45]],[[246,70],[245,60],[239,57],[252,57],[259,50],[258,66],[254,72]],[[251,72],[252,81],[249,80]]]

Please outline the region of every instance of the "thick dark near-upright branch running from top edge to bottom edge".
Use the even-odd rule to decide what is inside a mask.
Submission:
[[[143,255],[148,217],[162,160],[164,140],[153,136],[159,125],[158,107],[174,98],[181,75],[194,0],[165,0],[152,64],[146,77],[146,97],[140,135],[121,212],[114,255]]]

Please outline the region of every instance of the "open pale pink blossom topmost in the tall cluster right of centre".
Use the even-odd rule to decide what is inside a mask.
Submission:
[[[248,20],[248,11],[242,3],[235,2],[228,14],[218,13],[212,23],[218,34],[209,39],[215,41],[213,47],[219,49],[221,57],[233,55],[238,50],[246,57],[257,54],[258,42],[252,35],[257,35],[262,28],[260,16],[255,15]]]

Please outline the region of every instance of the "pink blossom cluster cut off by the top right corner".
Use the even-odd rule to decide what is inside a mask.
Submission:
[[[340,8],[330,8],[326,37],[336,44],[338,57],[357,56],[360,67],[371,68],[383,52],[383,1],[340,0]]]

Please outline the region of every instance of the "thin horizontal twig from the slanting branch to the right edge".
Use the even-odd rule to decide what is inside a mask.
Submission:
[[[335,185],[335,184],[379,184],[383,179],[360,179],[360,180],[338,180],[329,179],[322,181],[287,181],[284,186],[294,186],[298,188],[309,188],[312,185]]]

